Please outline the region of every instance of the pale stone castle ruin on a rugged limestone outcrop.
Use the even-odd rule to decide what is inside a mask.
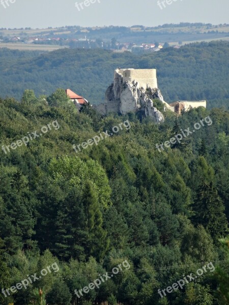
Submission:
[[[206,101],[189,102],[177,101],[167,104],[157,85],[156,69],[116,69],[113,83],[107,88],[105,102],[93,107],[101,114],[116,112],[141,111],[145,116],[151,116],[156,123],[164,120],[163,114],[153,106],[153,100],[159,99],[164,104],[164,109],[169,109],[178,114],[182,110],[203,106]]]

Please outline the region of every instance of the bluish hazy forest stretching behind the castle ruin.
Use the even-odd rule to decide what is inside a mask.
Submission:
[[[228,109],[228,53],[226,42],[196,43],[144,55],[101,49],[63,49],[38,55],[0,49],[0,96],[20,99],[27,88],[36,95],[50,95],[62,87],[99,104],[116,68],[156,68],[166,102],[207,100],[209,109]]]

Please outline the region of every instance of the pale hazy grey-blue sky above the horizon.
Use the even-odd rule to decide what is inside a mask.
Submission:
[[[10,3],[10,1],[12,3]],[[90,0],[85,0],[87,5]],[[0,27],[33,27],[81,25],[205,22],[229,23],[228,0],[91,0],[90,6],[79,10],[75,0],[0,0]],[[7,6],[7,2],[9,6]],[[77,0],[78,4],[82,0]],[[5,8],[4,8],[5,6]]]

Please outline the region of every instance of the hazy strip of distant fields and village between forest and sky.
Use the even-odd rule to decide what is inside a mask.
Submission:
[[[36,28],[0,28],[0,47],[7,44],[20,45],[23,48],[58,49],[82,48],[105,49],[113,52],[158,52],[163,48],[179,49],[187,42],[209,41],[227,38],[229,24],[213,25],[211,23],[162,24],[158,26],[132,25],[125,26],[94,26],[79,25]],[[87,35],[87,36],[85,36]],[[42,47],[40,47],[42,46]]]

